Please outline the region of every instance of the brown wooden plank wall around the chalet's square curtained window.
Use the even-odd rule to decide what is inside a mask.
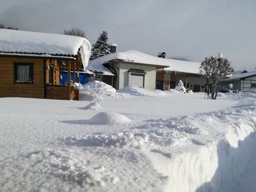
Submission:
[[[34,63],[33,84],[14,83],[13,62]],[[0,97],[44,98],[44,60],[0,57]]]

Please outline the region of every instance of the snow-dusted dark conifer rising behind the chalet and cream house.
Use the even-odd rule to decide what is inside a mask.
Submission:
[[[108,44],[108,33],[106,31],[102,31],[97,42],[92,45],[92,56],[90,60],[95,60],[96,58],[109,54],[109,52],[110,46]]]

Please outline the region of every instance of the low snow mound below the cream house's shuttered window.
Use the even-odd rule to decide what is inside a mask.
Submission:
[[[161,90],[148,90],[145,88],[140,88],[138,86],[125,86],[124,88],[118,90],[119,93],[128,93],[134,96],[161,96],[166,95]]]

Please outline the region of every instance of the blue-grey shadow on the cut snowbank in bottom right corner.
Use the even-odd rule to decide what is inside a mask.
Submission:
[[[238,147],[230,146],[226,141],[218,144],[218,169],[211,182],[206,182],[196,192],[202,191],[255,191],[256,172],[248,175],[256,165],[256,132],[252,132],[243,141],[239,141]],[[253,168],[256,170],[256,168]],[[251,184],[248,183],[251,180]],[[253,181],[252,181],[253,180]]]

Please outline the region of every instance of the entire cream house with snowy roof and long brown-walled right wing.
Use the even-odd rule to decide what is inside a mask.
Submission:
[[[139,51],[113,52],[89,62],[88,70],[95,73],[89,81],[103,81],[116,89],[139,86],[168,90],[182,80],[193,92],[205,92],[206,79],[200,75],[200,63],[165,56],[165,52],[159,52],[157,57]]]

